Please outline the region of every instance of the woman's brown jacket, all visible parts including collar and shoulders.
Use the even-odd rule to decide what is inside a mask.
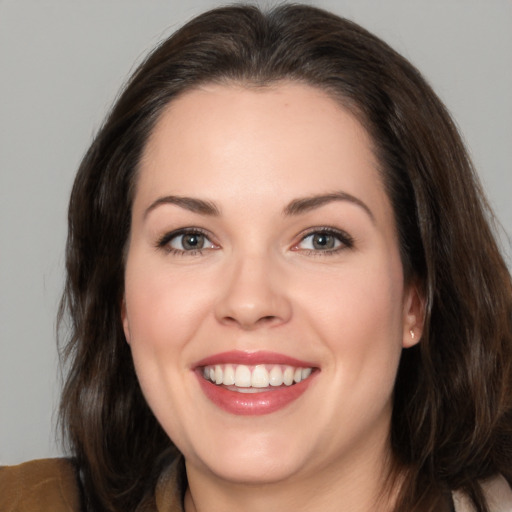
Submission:
[[[154,512],[184,512],[179,490],[179,460],[160,477]],[[491,512],[512,512],[512,491],[502,477],[484,484]],[[0,468],[0,512],[79,512],[76,473],[67,459],[43,459]],[[472,512],[454,493],[456,512]]]

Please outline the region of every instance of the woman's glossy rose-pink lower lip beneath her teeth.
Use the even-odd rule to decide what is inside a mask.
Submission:
[[[200,372],[196,372],[199,384],[207,398],[217,407],[238,416],[271,414],[284,409],[306,391],[315,374],[316,372],[313,372],[306,380],[292,386],[257,393],[239,393],[213,384]]]

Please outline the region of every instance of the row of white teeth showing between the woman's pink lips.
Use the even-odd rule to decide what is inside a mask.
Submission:
[[[215,364],[202,368],[202,376],[239,393],[259,393],[293,386],[308,379],[313,368],[280,364]]]

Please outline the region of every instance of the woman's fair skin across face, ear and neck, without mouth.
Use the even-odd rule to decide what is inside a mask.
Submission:
[[[401,351],[421,337],[422,299],[404,283],[371,147],[333,99],[287,82],[189,91],[157,123],[136,187],[122,320],[145,397],[185,456],[187,512],[375,510],[393,384]],[[355,200],[286,213],[334,192]],[[169,195],[218,214],[159,202]],[[353,245],[312,248],[308,230],[326,226]],[[179,237],[158,246],[188,227],[207,233],[202,251],[172,252]],[[229,350],[319,371],[284,409],[237,416],[193,371]]]

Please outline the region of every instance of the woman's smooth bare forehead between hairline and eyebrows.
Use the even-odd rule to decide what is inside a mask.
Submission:
[[[163,193],[286,201],[342,189],[370,202],[384,194],[358,119],[327,93],[293,82],[206,85],[179,96],[149,138],[137,189],[136,202]]]

